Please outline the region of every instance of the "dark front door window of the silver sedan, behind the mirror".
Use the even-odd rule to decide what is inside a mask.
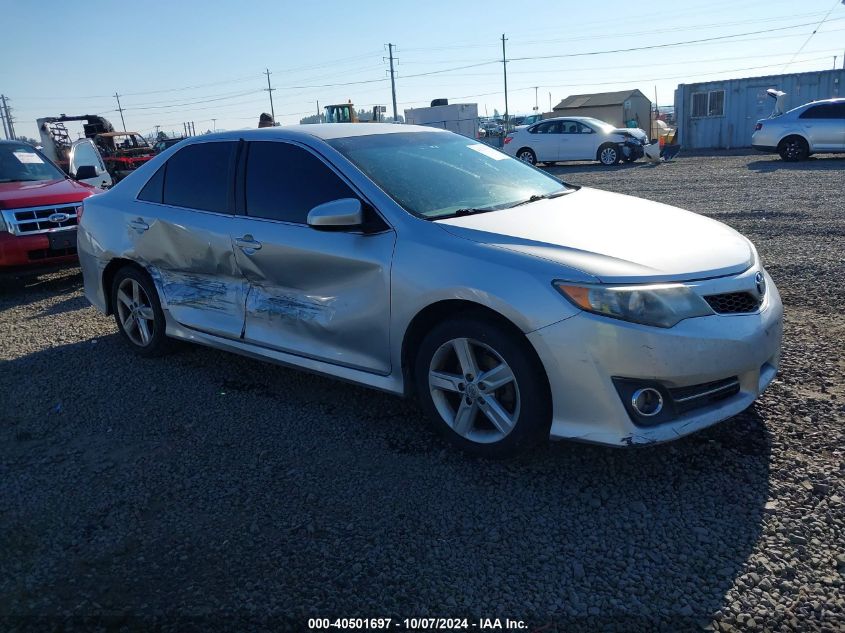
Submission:
[[[358,197],[316,156],[281,142],[249,144],[245,193],[247,215],[296,224],[318,204]]]

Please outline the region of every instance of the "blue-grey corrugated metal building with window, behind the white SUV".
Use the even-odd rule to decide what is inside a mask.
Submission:
[[[689,149],[751,147],[759,119],[774,109],[769,88],[786,93],[784,111],[845,95],[845,70],[819,70],[681,84],[675,90],[680,143]]]

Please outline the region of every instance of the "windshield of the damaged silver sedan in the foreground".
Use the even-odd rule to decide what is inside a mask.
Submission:
[[[431,220],[569,191],[520,160],[448,132],[354,136],[328,143],[407,211]]]

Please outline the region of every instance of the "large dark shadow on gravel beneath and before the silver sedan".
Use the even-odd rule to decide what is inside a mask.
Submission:
[[[0,383],[0,548],[28,570],[0,602],[129,624],[249,602],[271,621],[688,630],[744,573],[769,496],[754,409],[671,444],[489,462],[410,401],[195,346],[141,359],[104,336],[7,361]]]

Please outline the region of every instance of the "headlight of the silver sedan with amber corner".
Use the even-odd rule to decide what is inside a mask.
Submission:
[[[672,327],[690,317],[707,316],[713,310],[686,286],[573,286],[563,281],[554,287],[587,312],[643,325]]]

